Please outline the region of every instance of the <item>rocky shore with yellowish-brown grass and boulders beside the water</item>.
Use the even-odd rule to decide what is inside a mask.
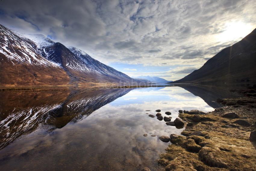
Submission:
[[[256,170],[256,86],[231,91],[245,97],[218,99],[225,106],[208,113],[179,110],[186,128],[161,137],[172,143],[158,159],[164,170]]]

